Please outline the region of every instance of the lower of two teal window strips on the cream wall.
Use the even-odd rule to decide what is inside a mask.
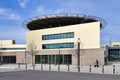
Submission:
[[[42,49],[74,48],[74,43],[43,44]]]

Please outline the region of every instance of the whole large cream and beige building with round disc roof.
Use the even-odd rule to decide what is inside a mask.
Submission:
[[[100,48],[102,19],[86,15],[51,15],[35,17],[25,22],[27,51],[34,42],[35,63],[77,64],[78,38],[80,38],[80,64],[104,64],[104,49]],[[31,63],[31,57],[28,63]]]

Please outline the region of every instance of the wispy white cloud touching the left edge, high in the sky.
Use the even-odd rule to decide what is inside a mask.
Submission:
[[[15,14],[13,10],[0,8],[0,19],[19,20],[21,17]]]

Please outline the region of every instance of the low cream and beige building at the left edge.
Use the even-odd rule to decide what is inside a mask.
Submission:
[[[15,44],[14,40],[0,40],[0,62],[24,62],[25,50],[25,44]]]

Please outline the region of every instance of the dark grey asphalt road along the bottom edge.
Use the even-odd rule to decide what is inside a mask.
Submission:
[[[1,72],[0,80],[120,80],[120,75],[75,72],[14,71]]]

